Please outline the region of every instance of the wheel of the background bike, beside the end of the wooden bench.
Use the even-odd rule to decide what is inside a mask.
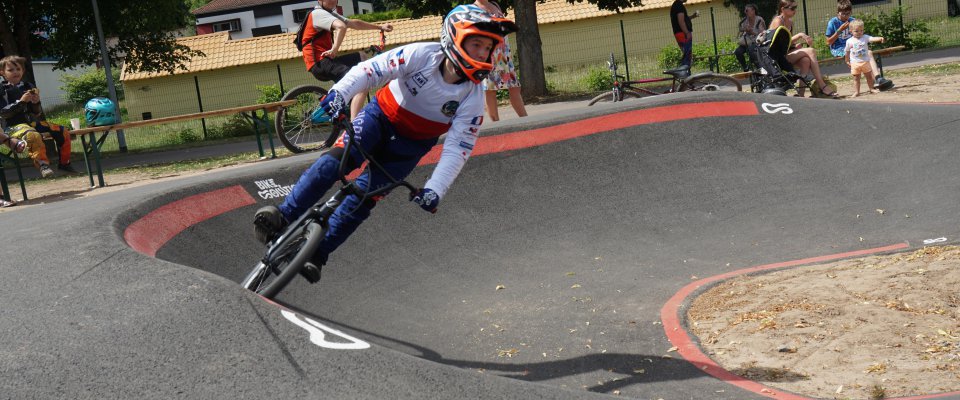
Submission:
[[[310,120],[313,110],[327,90],[316,85],[300,85],[283,95],[281,100],[297,100],[277,110],[274,125],[283,147],[293,153],[328,148],[337,140],[337,130],[330,122],[315,124]]]

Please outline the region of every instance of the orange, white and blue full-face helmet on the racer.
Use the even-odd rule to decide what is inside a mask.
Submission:
[[[494,17],[476,6],[457,6],[443,19],[440,45],[443,54],[453,62],[458,75],[473,83],[480,83],[493,71],[493,64],[490,63],[490,57],[486,60],[470,57],[463,48],[464,41],[469,36],[483,36],[493,39],[496,47],[503,42],[505,35],[516,31],[517,25],[509,19]]]

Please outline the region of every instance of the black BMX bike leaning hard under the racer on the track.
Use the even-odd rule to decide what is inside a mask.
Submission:
[[[347,140],[344,140],[343,156],[340,159],[340,188],[326,201],[320,199],[300,218],[288,225],[277,238],[270,241],[263,258],[241,282],[244,288],[268,299],[272,299],[280,293],[300,273],[304,264],[310,260],[317,247],[320,246],[320,242],[324,239],[328,226],[327,221],[347,196],[359,196],[361,198],[359,204],[363,204],[370,198],[383,195],[400,186],[410,190],[411,195],[418,190],[407,181],[397,180],[390,176],[383,166],[371,158],[362,146],[356,148],[363,159],[367,161],[367,168],[375,168],[382,172],[391,183],[365,192],[356,185],[356,181],[347,180],[344,174],[344,166],[347,165],[350,147],[354,143],[353,126],[350,119],[345,116],[333,121],[333,125],[336,131],[343,131],[344,135],[347,135]]]

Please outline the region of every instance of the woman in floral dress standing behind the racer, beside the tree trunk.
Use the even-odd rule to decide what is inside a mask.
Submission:
[[[497,18],[504,18],[503,10],[495,1],[476,0],[473,5],[482,8]],[[497,48],[493,49],[493,55],[490,57],[490,63],[493,64],[493,71],[490,76],[483,80],[483,90],[486,94],[487,113],[490,119],[500,120],[500,112],[497,110],[497,90],[506,89],[510,94],[510,105],[519,117],[527,116],[527,109],[523,104],[523,96],[520,94],[520,80],[517,79],[517,72],[513,66],[513,57],[510,56],[510,47],[507,41],[500,42]]]

